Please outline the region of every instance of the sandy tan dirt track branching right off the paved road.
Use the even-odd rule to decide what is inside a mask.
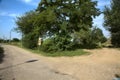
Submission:
[[[78,57],[49,58],[59,72],[72,75],[76,80],[113,80],[120,75],[120,50],[87,50],[91,55]]]

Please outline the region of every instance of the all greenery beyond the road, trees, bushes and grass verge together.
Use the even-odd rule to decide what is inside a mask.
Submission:
[[[51,56],[81,55],[86,53],[83,49],[120,47],[119,5],[119,0],[112,0],[110,7],[100,12],[96,1],[41,0],[35,10],[17,17],[16,31],[22,33],[22,39],[13,44]],[[93,18],[100,14],[105,15],[104,27],[111,33],[109,39],[99,26],[92,25]]]

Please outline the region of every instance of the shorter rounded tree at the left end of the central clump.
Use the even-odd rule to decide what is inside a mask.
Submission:
[[[34,25],[37,13],[35,11],[29,11],[25,15],[18,17],[16,24],[18,25],[17,31],[22,33],[23,46],[27,48],[37,47],[37,40],[39,37],[38,28]]]

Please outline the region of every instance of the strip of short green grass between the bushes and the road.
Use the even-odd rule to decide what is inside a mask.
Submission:
[[[13,43],[12,45],[21,47],[20,43]],[[36,53],[36,54],[41,54],[43,56],[48,56],[48,57],[61,57],[61,56],[72,57],[72,56],[80,56],[80,55],[90,54],[89,52],[86,52],[83,49],[77,49],[75,51],[61,51],[61,52],[46,53],[46,52],[40,51],[38,49],[27,49],[27,48],[24,48],[24,47],[21,47],[21,48],[26,49],[30,52],[33,52],[33,53]]]

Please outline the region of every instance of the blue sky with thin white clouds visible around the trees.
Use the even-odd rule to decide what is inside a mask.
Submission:
[[[93,0],[98,1],[98,6],[101,11],[104,6],[110,5],[110,0]],[[0,38],[9,39],[10,32],[12,38],[21,38],[21,34],[15,32],[13,29],[17,27],[15,20],[17,16],[22,16],[24,13],[35,10],[40,0],[0,0]],[[101,14],[93,20],[93,25],[103,30],[106,37],[110,33],[104,29],[103,20],[104,15]]]

